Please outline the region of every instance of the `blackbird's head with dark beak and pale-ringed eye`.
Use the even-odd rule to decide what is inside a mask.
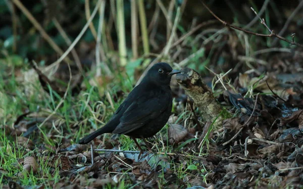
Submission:
[[[169,64],[159,62],[148,70],[144,80],[157,85],[169,85],[172,75],[179,73],[181,72],[173,70]]]

